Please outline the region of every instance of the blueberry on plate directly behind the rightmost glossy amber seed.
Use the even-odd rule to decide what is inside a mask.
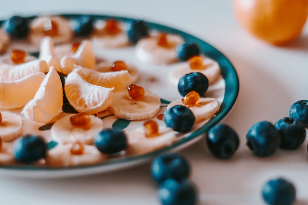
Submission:
[[[177,88],[183,97],[191,91],[195,91],[200,96],[204,96],[206,90],[209,88],[209,80],[202,73],[188,73],[180,78]]]

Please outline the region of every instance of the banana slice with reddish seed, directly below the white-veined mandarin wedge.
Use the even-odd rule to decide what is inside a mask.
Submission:
[[[88,129],[75,127],[71,124],[70,117],[65,116],[51,127],[53,139],[60,144],[73,144],[80,141],[83,144],[93,144],[94,137],[103,129],[103,121],[90,115],[91,122]]]

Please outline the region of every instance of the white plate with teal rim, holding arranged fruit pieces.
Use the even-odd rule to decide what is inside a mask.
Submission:
[[[0,28],[0,173],[110,171],[196,142],[233,107],[213,46],[116,16],[13,16]]]

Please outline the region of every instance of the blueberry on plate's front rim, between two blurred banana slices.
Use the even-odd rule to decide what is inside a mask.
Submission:
[[[100,152],[113,154],[127,148],[127,137],[123,130],[107,128],[95,136],[94,143]]]

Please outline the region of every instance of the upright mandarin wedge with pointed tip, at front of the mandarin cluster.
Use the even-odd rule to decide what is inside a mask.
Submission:
[[[57,71],[51,67],[34,98],[26,104],[22,113],[29,120],[47,123],[62,112],[62,106],[62,83]]]

